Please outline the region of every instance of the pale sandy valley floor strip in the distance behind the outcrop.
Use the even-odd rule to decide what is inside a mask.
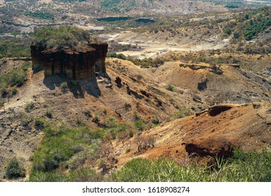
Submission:
[[[217,50],[224,48],[230,44],[230,40],[220,37],[220,31],[212,36],[202,39],[199,37],[187,37],[187,36],[168,36],[167,33],[159,34],[142,34],[135,33],[133,31],[124,31],[120,34],[108,34],[100,35],[104,41],[117,41],[119,44],[124,45],[137,45],[140,50],[133,51],[121,51],[126,56],[137,57],[139,59],[157,57],[161,54],[165,54],[169,51],[177,52],[190,52],[201,50]]]

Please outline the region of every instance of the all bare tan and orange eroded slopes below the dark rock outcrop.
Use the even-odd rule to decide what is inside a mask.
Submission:
[[[2,64],[1,73],[21,63],[8,60]],[[208,151],[219,151],[222,144],[239,146],[245,151],[270,145],[271,87],[256,73],[230,65],[221,65],[214,71],[206,63],[180,61],[144,69],[114,58],[107,59],[107,73],[108,78],[74,82],[60,76],[44,78],[43,71],[33,74],[29,70],[25,85],[7,99],[0,111],[1,178],[6,160],[12,156],[29,167],[31,155],[42,138],[41,130],[34,126],[34,118],[38,117],[55,125],[65,122],[74,127],[78,119],[90,127],[99,127],[110,118],[119,123],[132,123],[135,119],[152,123],[158,118],[163,124],[142,134],[154,137],[154,148],[138,153],[136,137],[125,141],[124,146],[118,140],[113,142],[117,165],[134,157],[166,156],[180,161],[187,158],[185,145],[181,144],[211,149]],[[68,84],[65,90],[61,87],[63,81]],[[174,91],[166,90],[166,84],[173,85]],[[204,111],[210,105],[228,102],[239,105],[230,105],[229,110],[215,116]],[[33,106],[30,111],[25,109],[27,104]],[[51,118],[46,116],[48,109]],[[168,122],[182,109],[196,115]],[[93,121],[95,117],[99,122]],[[211,142],[221,138],[221,145]],[[127,148],[129,153],[125,153]]]

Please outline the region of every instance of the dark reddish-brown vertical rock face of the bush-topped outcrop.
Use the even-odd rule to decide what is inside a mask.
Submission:
[[[44,76],[62,74],[73,80],[95,79],[95,72],[105,73],[107,43],[96,43],[77,49],[46,49],[31,45],[32,69],[44,68]]]

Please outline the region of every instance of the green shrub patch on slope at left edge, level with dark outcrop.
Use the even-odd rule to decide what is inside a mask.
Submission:
[[[8,94],[14,94],[15,87],[20,87],[27,80],[27,69],[30,63],[25,62],[20,67],[15,68],[8,73],[0,76],[0,95],[5,97]]]

